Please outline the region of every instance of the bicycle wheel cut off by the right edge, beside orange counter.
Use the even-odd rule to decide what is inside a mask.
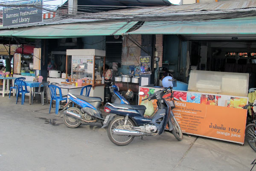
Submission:
[[[249,124],[245,128],[245,139],[250,147],[256,152],[256,125]]]

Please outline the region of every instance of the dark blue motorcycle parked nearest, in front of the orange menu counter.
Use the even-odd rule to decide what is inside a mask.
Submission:
[[[111,104],[104,107],[105,112],[110,113],[103,122],[102,128],[107,128],[108,137],[115,145],[128,145],[135,136],[157,136],[164,130],[172,132],[179,141],[183,138],[180,125],[175,119],[172,109],[175,108],[174,101],[166,101],[163,95],[167,90],[175,87],[176,80],[170,76],[165,77],[169,86],[155,92],[144,100],[157,99],[157,112],[152,118],[144,117],[146,107],[144,105]],[[165,79],[164,78],[164,79]],[[140,92],[142,94],[142,92]]]

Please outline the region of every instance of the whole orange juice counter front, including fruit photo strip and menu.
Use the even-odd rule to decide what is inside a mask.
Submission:
[[[139,104],[145,105],[147,100],[141,100],[158,90],[160,89],[140,87],[144,95],[140,95]],[[170,92],[163,97],[167,101],[171,100]],[[248,103],[248,98],[173,90],[172,100],[175,102],[172,112],[183,133],[244,143],[247,110],[242,107]],[[147,108],[146,117],[154,116],[156,102],[152,100],[146,103],[146,107],[151,107],[151,110]]]

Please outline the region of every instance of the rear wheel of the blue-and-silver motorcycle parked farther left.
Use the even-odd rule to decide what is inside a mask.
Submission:
[[[67,110],[70,112],[82,115],[81,110],[77,107],[69,107]],[[79,121],[77,121],[76,119],[70,116],[67,116],[65,113],[63,114],[63,122],[68,128],[77,128],[81,125]]]

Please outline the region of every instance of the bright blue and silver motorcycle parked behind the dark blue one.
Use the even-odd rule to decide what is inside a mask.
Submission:
[[[113,104],[129,104],[129,102],[120,95],[119,88],[116,85],[110,87]],[[67,104],[64,106],[63,122],[69,128],[77,128],[82,123],[104,121],[102,113],[99,110],[102,99],[100,97],[87,97],[73,95],[68,93]],[[69,107],[76,104],[77,107]]]

